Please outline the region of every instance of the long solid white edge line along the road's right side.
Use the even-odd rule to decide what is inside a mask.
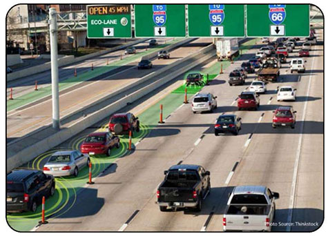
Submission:
[[[311,70],[313,70],[314,61],[315,61],[315,59],[313,59],[313,61],[312,61]],[[304,129],[304,121],[305,121],[305,112],[307,111],[307,101],[308,101],[310,88],[311,88],[311,80],[312,80],[312,74],[309,77],[309,83],[308,83],[308,86],[307,86],[307,95],[306,95],[305,105],[304,105],[304,108],[303,108],[303,114],[302,114],[302,119],[301,119],[302,124],[300,125],[300,137],[298,138],[298,148],[297,148],[297,152],[296,152],[296,160],[295,160],[294,169],[293,169],[293,179],[292,179],[292,182],[291,182],[291,197],[289,199],[289,210],[288,210],[288,215],[287,215],[287,222],[289,222],[289,223],[291,223],[291,220],[293,219],[293,207],[294,207],[295,194],[296,194],[298,164],[300,162],[300,150],[302,148],[302,138],[303,138],[303,129]],[[290,224],[287,226],[286,231],[287,232],[291,231]]]

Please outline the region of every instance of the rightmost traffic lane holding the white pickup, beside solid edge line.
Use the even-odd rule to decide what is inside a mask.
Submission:
[[[307,79],[305,78],[305,81]],[[306,82],[300,83],[298,86],[299,95],[304,95],[306,88]],[[290,105],[290,103],[283,102],[282,105]],[[298,104],[296,109],[300,109],[302,106],[304,104]],[[271,117],[272,115],[266,113],[263,119],[264,124],[271,124]],[[280,210],[277,210],[277,221],[283,222],[287,220],[286,208],[289,204],[291,170],[293,170],[293,159],[298,150],[298,139],[295,135],[300,132],[300,127],[296,126],[296,130],[292,131],[293,134],[290,134],[291,131],[286,129],[274,131],[271,129],[271,126],[261,126],[261,135],[253,135],[251,145],[248,148],[249,154],[242,159],[240,166],[238,166],[237,173],[233,175],[231,186],[263,184],[280,193],[277,204],[280,208]],[[271,132],[276,134],[269,135]],[[272,172],[270,173],[271,168]],[[270,175],[267,175],[267,173],[270,173]],[[224,208],[224,205],[222,205],[222,208]],[[222,216],[213,217],[213,223],[211,224],[213,226],[210,230],[222,230]],[[215,226],[220,227],[215,228]],[[275,228],[275,230],[285,230],[285,228],[280,227]]]

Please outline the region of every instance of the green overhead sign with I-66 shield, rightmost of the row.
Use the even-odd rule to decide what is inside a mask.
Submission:
[[[247,5],[247,37],[308,37],[309,5]]]

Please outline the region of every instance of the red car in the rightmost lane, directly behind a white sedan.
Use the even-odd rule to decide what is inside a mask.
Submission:
[[[292,106],[280,106],[273,111],[272,127],[290,126],[295,128],[296,124],[296,110]]]

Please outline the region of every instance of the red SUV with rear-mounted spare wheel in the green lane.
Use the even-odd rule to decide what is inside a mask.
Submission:
[[[138,117],[135,117],[132,113],[117,113],[109,119],[108,129],[115,135],[128,135],[133,131],[139,132]]]

